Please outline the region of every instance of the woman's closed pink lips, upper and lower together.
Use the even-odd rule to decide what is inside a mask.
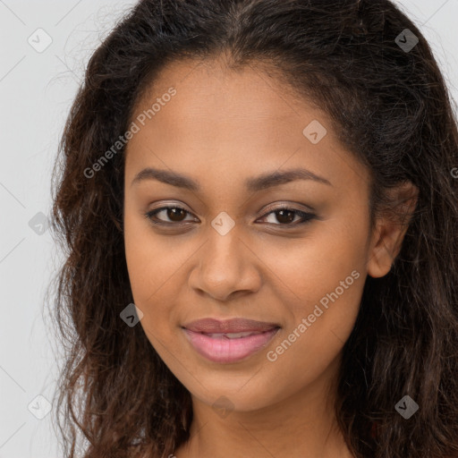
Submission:
[[[183,327],[194,349],[208,360],[231,363],[243,360],[266,346],[279,326],[244,318],[193,321]],[[242,336],[237,334],[244,333]]]

